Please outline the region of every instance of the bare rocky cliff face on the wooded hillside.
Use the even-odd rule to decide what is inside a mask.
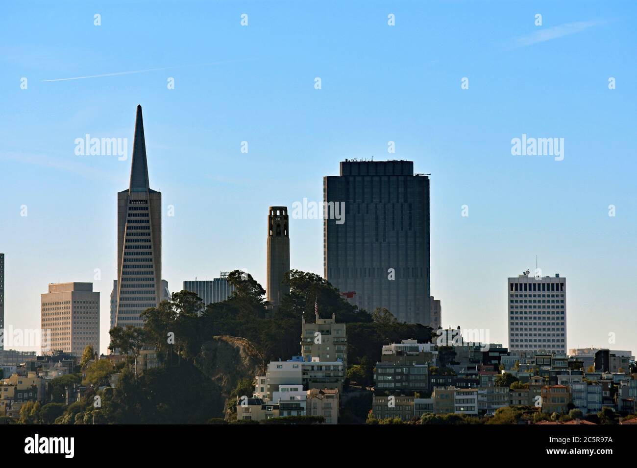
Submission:
[[[231,392],[244,378],[254,380],[261,374],[260,360],[252,344],[241,337],[215,336],[201,346],[197,367],[211,379],[215,391],[211,395],[217,409],[217,417],[229,419],[228,404],[234,404]],[[248,395],[252,396],[252,395]]]

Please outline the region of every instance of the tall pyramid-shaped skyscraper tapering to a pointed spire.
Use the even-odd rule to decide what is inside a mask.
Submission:
[[[137,106],[129,188],[117,194],[115,326],[143,324],[140,313],[162,299],[161,192],[150,188],[144,124]]]

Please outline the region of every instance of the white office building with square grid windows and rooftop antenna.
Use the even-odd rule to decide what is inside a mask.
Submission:
[[[508,278],[509,349],[566,353],[566,278]]]

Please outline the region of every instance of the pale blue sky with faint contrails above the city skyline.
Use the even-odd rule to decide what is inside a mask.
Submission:
[[[408,159],[432,174],[431,291],[443,325],[508,344],[506,278],[533,271],[538,255],[544,275],[567,278],[568,348],[637,351],[633,2],[0,8],[6,325],[39,328],[48,283],[92,281],[106,350],[117,192],[141,104],[171,291],[237,268],[265,285],[268,206],[321,201],[323,176],[345,158]],[[128,138],[127,159],[76,155],[85,134]],[[564,138],[564,159],[512,155],[522,134]],[[290,221],[293,268],[322,274],[322,248],[321,220]]]

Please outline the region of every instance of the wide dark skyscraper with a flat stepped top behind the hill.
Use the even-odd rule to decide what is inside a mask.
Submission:
[[[324,177],[323,197],[326,280],[368,312],[431,325],[429,177],[412,161],[345,160]]]

